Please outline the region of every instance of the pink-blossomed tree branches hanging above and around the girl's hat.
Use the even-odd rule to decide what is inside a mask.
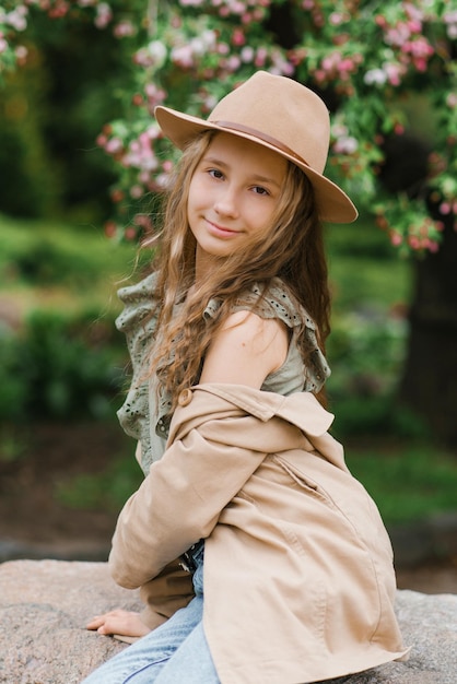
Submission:
[[[134,239],[152,227],[150,197],[174,160],[154,106],[204,116],[266,69],[324,97],[333,114],[328,173],[401,253],[429,253],[420,267],[427,272],[438,263],[431,257],[446,258],[435,253],[444,233],[440,252],[457,250],[457,11],[448,0],[3,0],[0,78],[26,60],[23,38],[36,12],[91,21],[130,55],[124,117],[97,139],[118,177],[108,235]],[[387,190],[386,151],[401,144],[424,107],[426,168],[413,187]],[[437,292],[455,310],[455,285]]]

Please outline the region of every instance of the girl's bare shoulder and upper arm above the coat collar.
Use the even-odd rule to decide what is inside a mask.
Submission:
[[[214,337],[200,381],[233,382],[258,389],[284,363],[288,347],[284,323],[251,311],[236,311]]]

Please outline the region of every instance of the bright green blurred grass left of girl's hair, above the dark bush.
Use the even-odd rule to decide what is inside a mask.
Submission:
[[[0,293],[21,311],[118,310],[116,290],[134,270],[136,247],[90,225],[0,214]]]

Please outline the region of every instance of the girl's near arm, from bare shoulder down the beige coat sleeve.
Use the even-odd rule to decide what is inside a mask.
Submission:
[[[258,389],[281,366],[286,352],[282,323],[244,311],[234,314],[209,350],[200,384]],[[258,418],[223,399],[209,400],[206,392],[194,393],[191,409],[199,413],[198,425],[184,429],[152,465],[119,516],[109,564],[114,578],[125,587],[149,581],[188,546],[208,536],[221,510],[265,458],[265,447],[255,438]],[[179,406],[176,415],[187,424],[186,408]],[[249,431],[254,446],[237,445],[236,438],[249,436]],[[262,435],[268,432],[268,424],[262,424]]]

